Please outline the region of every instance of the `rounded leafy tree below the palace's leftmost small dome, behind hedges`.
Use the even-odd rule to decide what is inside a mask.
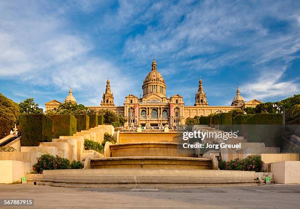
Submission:
[[[65,102],[60,104],[56,109],[56,114],[87,114],[88,108],[83,104],[76,104],[73,102]]]

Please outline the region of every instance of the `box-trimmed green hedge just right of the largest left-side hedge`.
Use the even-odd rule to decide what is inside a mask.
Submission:
[[[53,137],[73,136],[76,133],[76,118],[73,115],[53,116]]]

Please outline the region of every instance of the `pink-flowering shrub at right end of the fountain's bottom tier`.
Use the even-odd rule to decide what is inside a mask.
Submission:
[[[229,162],[219,161],[220,170],[247,170],[259,172],[264,162],[259,155],[250,155],[242,160],[234,159]]]

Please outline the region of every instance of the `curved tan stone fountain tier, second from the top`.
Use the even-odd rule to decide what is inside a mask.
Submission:
[[[111,145],[111,157],[126,156],[165,156],[165,157],[194,157],[193,148],[183,148],[178,143],[141,142]]]

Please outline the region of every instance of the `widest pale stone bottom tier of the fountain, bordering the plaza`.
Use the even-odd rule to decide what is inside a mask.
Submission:
[[[71,169],[27,174],[27,183],[79,188],[201,188],[258,185],[253,171],[197,169]]]

